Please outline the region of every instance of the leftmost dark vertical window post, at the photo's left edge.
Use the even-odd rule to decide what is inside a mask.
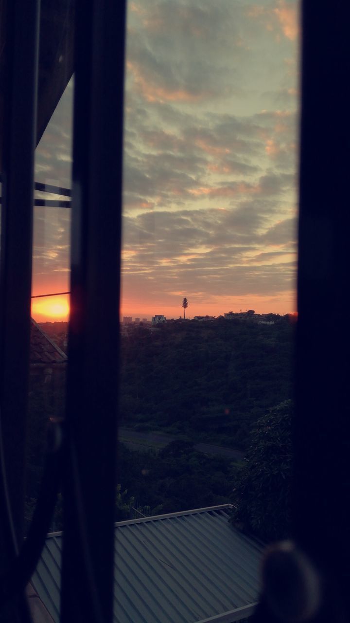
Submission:
[[[32,211],[39,49],[39,0],[2,2],[4,105],[0,128],[2,204],[0,249],[0,575],[21,545],[24,527]],[[19,614],[21,613],[21,614]],[[25,621],[24,599],[2,611]]]

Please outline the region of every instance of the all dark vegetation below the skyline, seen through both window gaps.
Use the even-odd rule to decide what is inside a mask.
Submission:
[[[269,319],[275,324],[258,325],[252,318],[178,320],[156,331],[137,326],[121,338],[121,426],[182,439],[160,451],[135,452],[119,444],[116,521],[233,502],[234,521],[245,530],[266,540],[288,533],[285,401],[291,396],[295,326],[287,316]],[[45,384],[39,376],[31,381],[28,524],[39,493],[46,422],[63,414],[64,386],[63,376],[58,384]],[[244,450],[250,445],[244,467],[197,452],[200,441]],[[62,496],[50,529],[60,528]]]

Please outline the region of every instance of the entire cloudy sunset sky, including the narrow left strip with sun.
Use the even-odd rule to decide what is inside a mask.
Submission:
[[[72,94],[38,181],[71,187]],[[297,159],[295,0],[129,2],[121,316],[295,312]],[[69,210],[35,208],[34,294],[69,289],[69,237]]]

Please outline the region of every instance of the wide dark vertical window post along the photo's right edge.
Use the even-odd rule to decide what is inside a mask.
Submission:
[[[349,6],[305,0],[302,19],[293,528],[348,601]]]

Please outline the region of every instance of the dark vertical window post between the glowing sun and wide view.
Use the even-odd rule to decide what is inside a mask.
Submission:
[[[125,1],[78,0],[62,621],[113,620]]]

